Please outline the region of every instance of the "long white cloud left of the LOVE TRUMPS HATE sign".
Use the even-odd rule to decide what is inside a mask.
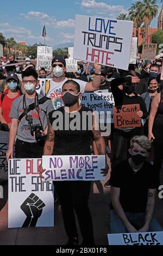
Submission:
[[[37,22],[46,22],[46,26],[51,28],[71,28],[74,27],[74,20],[61,20],[58,21],[53,16],[49,16],[46,13],[40,13],[39,11],[29,11],[27,14],[21,14],[26,20],[33,20]]]

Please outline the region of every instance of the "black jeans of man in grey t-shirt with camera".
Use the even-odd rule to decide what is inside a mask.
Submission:
[[[15,158],[41,158],[45,141],[29,143],[16,139]]]

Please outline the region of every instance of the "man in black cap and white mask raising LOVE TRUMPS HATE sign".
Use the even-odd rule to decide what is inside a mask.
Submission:
[[[95,78],[92,82],[84,82],[82,80],[73,79],[80,85],[80,93],[94,92],[98,90],[101,84],[101,65],[94,63]],[[53,103],[54,109],[64,106],[61,98],[62,85],[68,80],[66,74],[66,62],[61,56],[55,57],[52,60],[53,80],[43,85],[40,91],[41,95],[49,97]]]

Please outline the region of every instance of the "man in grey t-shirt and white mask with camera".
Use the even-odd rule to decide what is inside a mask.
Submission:
[[[13,157],[16,136],[16,158],[42,157],[47,133],[46,114],[53,110],[53,105],[47,97],[36,93],[36,86],[39,84],[37,77],[37,72],[33,69],[22,72],[25,93],[12,103],[7,160]]]

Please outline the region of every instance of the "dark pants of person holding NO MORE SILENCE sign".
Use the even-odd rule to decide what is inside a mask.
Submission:
[[[95,244],[92,217],[88,206],[91,181],[54,181],[53,184],[61,205],[67,236],[78,236],[75,210],[83,236],[83,245]]]

